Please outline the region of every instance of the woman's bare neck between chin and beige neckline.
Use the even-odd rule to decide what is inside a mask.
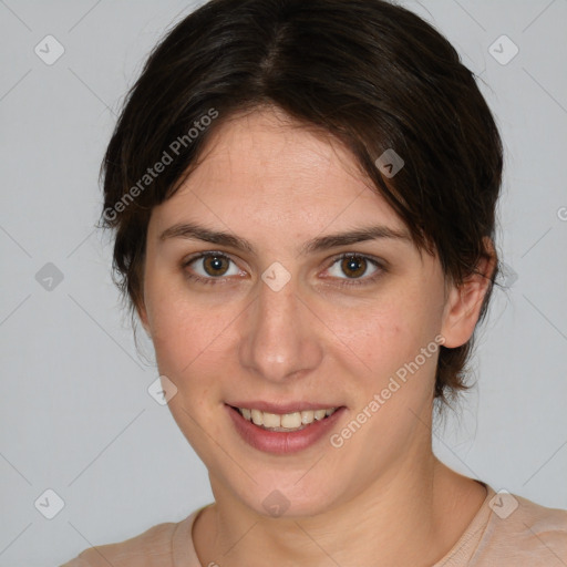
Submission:
[[[485,491],[443,465],[431,449],[408,461],[348,502],[308,517],[266,518],[214,485],[216,504],[194,527],[200,563],[431,566],[466,529]]]

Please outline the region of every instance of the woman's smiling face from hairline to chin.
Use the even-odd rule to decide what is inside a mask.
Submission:
[[[406,234],[362,179],[338,144],[256,112],[225,123],[152,213],[141,316],[217,502],[318,514],[379,478],[408,482],[430,455],[439,344],[467,337],[437,258],[409,237],[330,238]],[[230,408],[264,404],[306,421],[340,410],[290,433]]]

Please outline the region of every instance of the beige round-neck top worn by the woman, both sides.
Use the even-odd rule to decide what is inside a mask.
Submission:
[[[486,498],[449,554],[432,567],[567,567],[567,511],[498,493]],[[84,550],[61,567],[206,567],[192,527],[206,506],[182,522],[159,524],[118,544]]]

